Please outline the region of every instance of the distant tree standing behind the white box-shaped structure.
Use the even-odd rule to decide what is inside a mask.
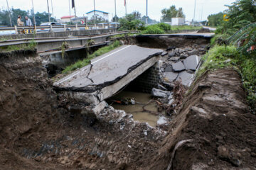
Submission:
[[[185,18],[182,8],[176,9],[176,6],[170,6],[170,8],[164,8],[162,11],[161,22],[171,22],[171,18],[181,17]]]

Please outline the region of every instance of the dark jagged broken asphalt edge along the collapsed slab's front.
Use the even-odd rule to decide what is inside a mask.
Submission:
[[[85,87],[79,87],[79,88],[75,88],[75,87],[59,87],[59,86],[55,86],[53,85],[53,89],[55,91],[76,91],[76,92],[87,92],[87,93],[92,93],[95,91],[98,91],[106,86],[110,86],[111,84],[116,83],[117,81],[119,81],[120,79],[122,79],[123,77],[127,76],[127,74],[129,74],[130,72],[132,72],[132,70],[137,69],[137,67],[141,66],[144,62],[150,60],[152,57],[159,57],[161,55],[161,53],[164,52],[164,50],[162,50],[161,52],[156,52],[153,55],[149,55],[149,57],[147,57],[144,60],[141,60],[140,62],[138,62],[137,64],[135,64],[132,67],[129,67],[127,69],[127,73],[117,77],[116,79],[112,80],[112,81],[106,81],[103,84],[97,84],[97,85],[92,85],[92,86],[85,86]]]

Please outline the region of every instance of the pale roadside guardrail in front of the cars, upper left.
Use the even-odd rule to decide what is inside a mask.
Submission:
[[[0,31],[5,30],[15,30],[15,33],[33,33],[35,30],[49,30],[53,31],[55,28],[63,28],[63,30],[80,30],[80,28],[85,28],[85,30],[90,29],[108,29],[108,28],[117,28],[117,25],[115,24],[97,24],[97,25],[63,25],[63,26],[14,26],[14,27],[0,27]],[[69,29],[67,29],[69,28]],[[27,32],[24,32],[27,31]]]

